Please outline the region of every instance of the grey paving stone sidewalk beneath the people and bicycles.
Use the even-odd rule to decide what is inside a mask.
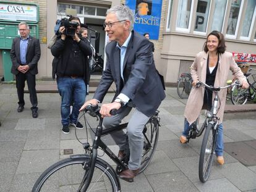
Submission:
[[[199,181],[198,161],[203,137],[189,144],[179,143],[186,100],[179,99],[176,88],[167,88],[166,94],[159,109],[160,138],[153,159],[134,183],[121,180],[122,191],[256,191],[256,165],[244,165],[227,152],[224,152],[225,164],[217,165],[214,160],[209,180],[206,183]],[[109,93],[105,102],[111,101],[113,95]],[[87,99],[92,96],[90,94]],[[75,139],[74,128],[68,135],[60,130],[61,98],[58,93],[38,93],[37,119],[32,118],[29,94],[25,94],[25,110],[17,112],[15,85],[0,84],[0,98],[1,192],[31,191],[41,172],[68,157],[64,149],[73,149],[74,154],[83,153],[81,144]],[[255,114],[225,114],[224,143],[254,142]],[[127,120],[129,117],[124,121]],[[77,135],[85,138],[85,130],[77,130]],[[105,141],[113,151],[118,151],[110,137]],[[251,147],[256,150],[254,144]],[[107,157],[103,156],[103,159],[113,165]]]

